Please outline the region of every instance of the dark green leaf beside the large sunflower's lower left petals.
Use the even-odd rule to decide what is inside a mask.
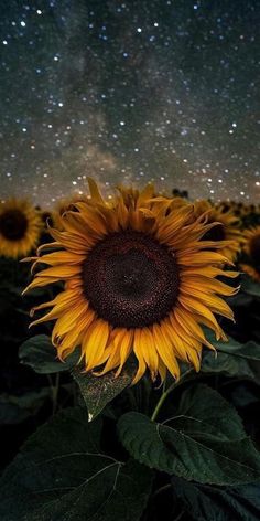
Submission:
[[[37,334],[25,340],[19,349],[20,362],[42,374],[68,371],[77,363],[78,358],[78,352],[74,351],[65,362],[61,362],[56,349],[46,334]]]

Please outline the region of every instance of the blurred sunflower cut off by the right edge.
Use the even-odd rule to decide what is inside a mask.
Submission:
[[[260,226],[243,232],[246,244],[243,252],[248,264],[241,264],[241,269],[260,283]]]

